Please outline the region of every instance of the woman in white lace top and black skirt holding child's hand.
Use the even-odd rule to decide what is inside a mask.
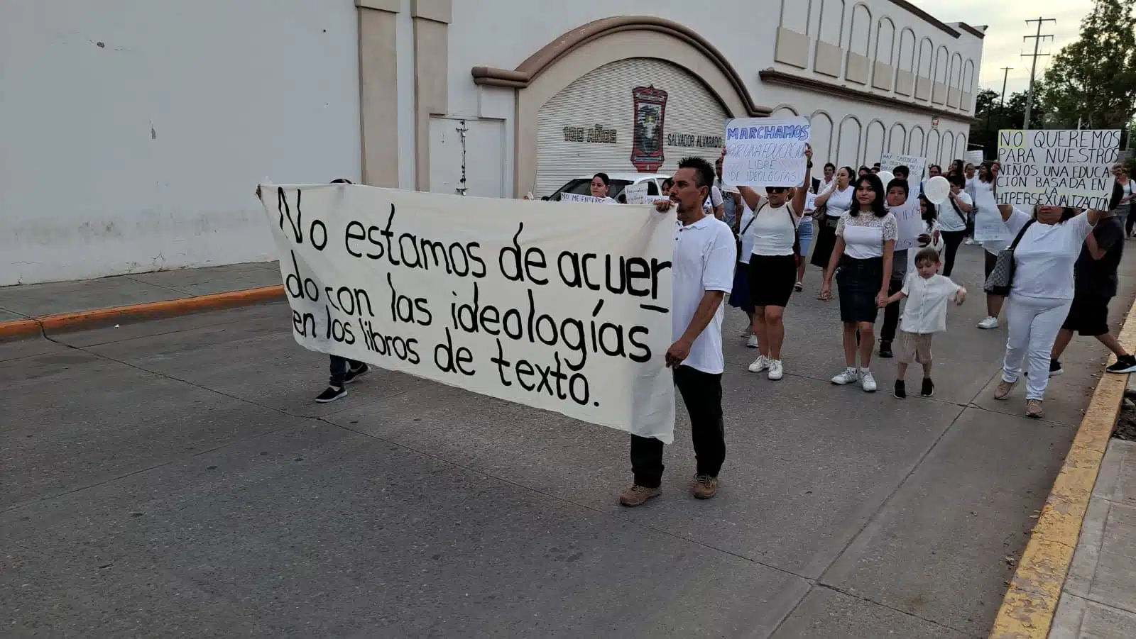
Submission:
[[[884,184],[876,174],[857,182],[855,208],[845,213],[836,227],[836,245],[820,299],[833,299],[833,276],[841,294],[841,321],[844,323],[844,372],[833,384],[859,380],[868,393],[876,392],[871,375],[871,351],[876,346],[875,323],[882,305],[887,302],[887,285],[892,279],[892,259],[899,225],[885,207]],[[857,335],[860,337],[860,369],[855,367]]]

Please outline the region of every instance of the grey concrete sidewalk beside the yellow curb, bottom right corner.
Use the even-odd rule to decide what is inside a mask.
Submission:
[[[1136,442],[1112,439],[1050,639],[1136,636]]]

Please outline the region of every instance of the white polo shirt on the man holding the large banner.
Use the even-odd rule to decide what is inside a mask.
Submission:
[[[675,233],[670,316],[671,333],[677,342],[694,319],[694,312],[707,291],[729,294],[734,286],[737,247],[734,245],[734,232],[713,216],[687,226],[679,224]],[[721,355],[724,305],[718,305],[713,319],[694,340],[691,354],[682,365],[712,375],[720,375],[726,369],[726,361]]]

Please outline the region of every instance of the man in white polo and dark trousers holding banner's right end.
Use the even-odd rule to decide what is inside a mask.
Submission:
[[[702,208],[715,180],[710,162],[685,158],[678,162],[674,180],[670,201],[655,204],[657,210],[666,212],[674,203],[679,222],[671,259],[675,343],[667,350],[666,363],[674,369],[675,386],[691,415],[691,438],[698,460],[691,493],[699,499],[709,499],[718,493],[718,471],[726,459],[721,320],[722,300],[734,280],[737,249],[726,222]],[[635,484],[620,493],[620,504],[641,506],[662,494],[662,446],[659,439],[632,435]]]

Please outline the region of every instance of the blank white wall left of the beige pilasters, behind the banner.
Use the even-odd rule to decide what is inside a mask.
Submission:
[[[356,20],[350,0],[0,3],[0,285],[273,258],[259,180],[359,178]]]

